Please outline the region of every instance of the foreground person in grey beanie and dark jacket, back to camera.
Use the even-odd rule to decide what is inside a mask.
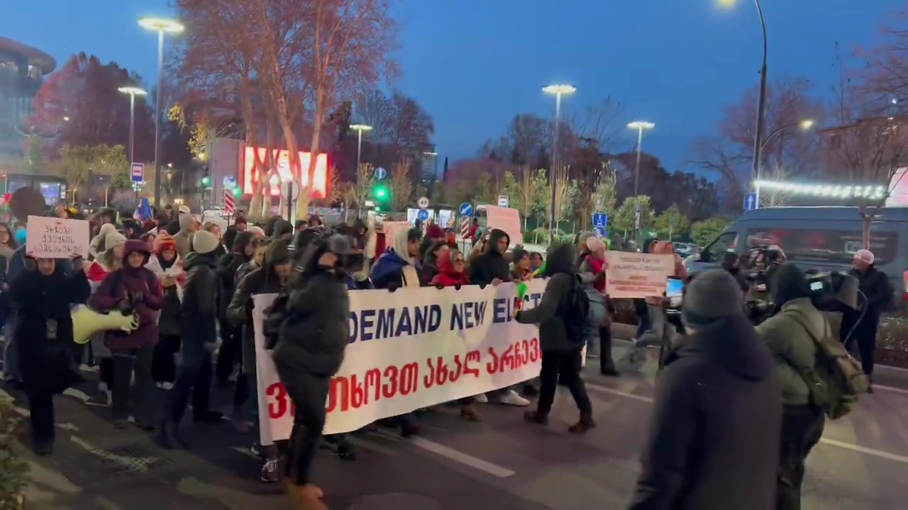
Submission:
[[[690,281],[686,336],[656,379],[642,471],[628,510],[767,510],[782,422],[773,357],[724,270]]]

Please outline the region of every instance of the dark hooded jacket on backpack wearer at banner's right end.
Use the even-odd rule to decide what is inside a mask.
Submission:
[[[539,325],[539,348],[545,351],[570,351],[583,348],[583,340],[573,341],[568,338],[565,329],[565,307],[568,302],[568,293],[574,284],[574,275],[577,251],[568,243],[559,244],[548,253],[546,272],[548,277],[546,290],[542,299],[533,309],[521,310],[517,314],[517,321],[521,324]]]

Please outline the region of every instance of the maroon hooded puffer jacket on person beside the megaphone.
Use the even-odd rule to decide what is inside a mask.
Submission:
[[[132,253],[142,253],[138,268],[129,265]],[[101,281],[101,286],[88,299],[98,312],[119,309],[126,304],[139,316],[139,328],[132,332],[112,329],[104,332],[104,345],[111,350],[152,347],[158,341],[158,310],[163,307],[161,282],[152,270],[145,267],[151,252],[141,240],[127,240],[123,246],[123,267],[113,270]]]

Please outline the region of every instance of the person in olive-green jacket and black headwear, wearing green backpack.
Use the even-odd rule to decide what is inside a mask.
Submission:
[[[771,283],[778,313],[756,327],[756,334],[775,358],[775,376],[782,387],[782,437],[775,510],[801,508],[804,463],[823,436],[824,412],[811,403],[802,374],[814,373],[816,342],[829,325],[810,300],[804,271],[786,264],[775,270]]]

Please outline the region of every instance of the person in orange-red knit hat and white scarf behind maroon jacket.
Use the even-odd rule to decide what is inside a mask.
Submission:
[[[159,387],[172,389],[176,380],[176,353],[180,352],[180,314],[186,273],[176,252],[176,241],[166,231],[154,240],[154,252],[145,267],[163,288],[163,306],[158,317],[158,343],[152,351],[152,379]]]

